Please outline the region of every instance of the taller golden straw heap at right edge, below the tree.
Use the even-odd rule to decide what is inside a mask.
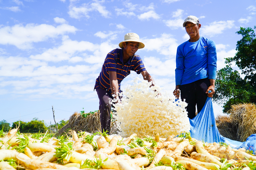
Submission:
[[[243,142],[248,136],[256,133],[256,106],[254,104],[232,105],[229,114],[233,128],[237,129],[237,141]]]

